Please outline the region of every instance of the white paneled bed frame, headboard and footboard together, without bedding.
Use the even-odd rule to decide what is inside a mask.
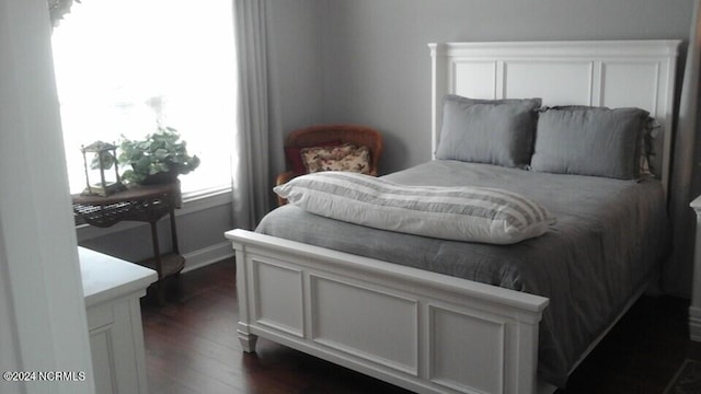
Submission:
[[[678,46],[677,40],[429,44],[432,149],[446,93],[637,106],[671,130]],[[261,336],[416,392],[554,391],[536,372],[545,298],[244,230],[226,235],[235,250],[244,351],[255,351]]]

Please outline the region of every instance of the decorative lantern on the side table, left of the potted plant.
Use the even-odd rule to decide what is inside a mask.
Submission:
[[[83,195],[97,195],[106,197],[115,192],[124,190],[125,186],[119,179],[119,170],[117,167],[117,147],[102,141],[95,141],[88,147],[81,146],[83,153],[83,164],[85,166],[85,184],[88,187],[83,190]],[[88,163],[88,155],[90,164]],[[111,169],[114,166],[114,174]],[[91,183],[91,174],[93,183]],[[94,183],[99,178],[99,183]]]

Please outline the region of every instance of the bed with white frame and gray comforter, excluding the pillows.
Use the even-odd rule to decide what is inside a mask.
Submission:
[[[244,351],[265,337],[416,392],[547,393],[565,385],[654,281],[668,247],[678,46],[430,44],[435,160],[381,182],[508,188],[543,202],[556,222],[541,236],[492,245],[278,208],[256,232],[226,234],[237,254]],[[575,112],[577,105],[642,108],[666,130],[655,138],[657,178],[639,169],[629,179],[553,173],[542,155],[531,164],[543,171],[446,157],[440,140],[450,94],[458,103],[539,97],[543,106],[575,105],[562,108]],[[538,138],[545,131],[539,128]]]

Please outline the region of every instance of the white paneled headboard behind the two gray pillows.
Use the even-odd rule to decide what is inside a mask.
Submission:
[[[428,44],[432,56],[432,157],[443,99],[541,97],[543,105],[640,107],[664,126],[662,182],[667,189],[674,85],[680,40]]]

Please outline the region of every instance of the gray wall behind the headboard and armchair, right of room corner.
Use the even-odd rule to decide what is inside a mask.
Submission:
[[[287,0],[278,0],[283,2]],[[430,42],[689,36],[692,0],[320,0],[323,114],[386,138],[382,172],[430,159]]]

